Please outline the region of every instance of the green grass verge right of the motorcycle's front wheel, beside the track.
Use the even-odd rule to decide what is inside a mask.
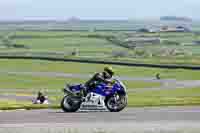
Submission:
[[[200,105],[200,88],[145,91],[129,94],[130,107]]]

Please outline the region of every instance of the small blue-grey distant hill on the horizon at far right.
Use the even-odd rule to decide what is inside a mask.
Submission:
[[[177,16],[163,16],[163,17],[160,17],[160,20],[162,20],[162,21],[186,21],[186,22],[192,21],[191,18],[177,17]]]

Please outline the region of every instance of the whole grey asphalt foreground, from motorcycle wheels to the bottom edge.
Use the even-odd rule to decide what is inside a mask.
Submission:
[[[31,129],[31,130],[30,130]],[[127,108],[119,113],[61,110],[0,113],[0,132],[199,133],[200,107]]]

